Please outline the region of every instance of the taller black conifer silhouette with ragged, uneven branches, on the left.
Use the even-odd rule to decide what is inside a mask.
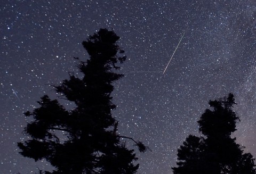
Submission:
[[[118,121],[111,114],[116,108],[111,102],[112,83],[123,77],[114,71],[120,69],[117,63],[126,59],[118,39],[107,29],[90,36],[82,43],[90,59],[83,62],[75,57],[83,77],[70,74],[54,86],[59,97],[75,103],[73,110],[45,95],[38,108],[25,113],[33,117],[25,128],[31,139],[18,143],[20,154],[35,161],[45,159],[57,169],[45,173],[132,174],[139,164],[134,164],[134,150],[127,149],[122,139],[132,139],[141,152],[149,150],[141,142],[119,135]]]

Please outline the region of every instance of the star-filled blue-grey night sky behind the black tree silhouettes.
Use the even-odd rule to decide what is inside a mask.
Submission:
[[[100,28],[113,28],[127,55],[114,84],[118,131],[152,150],[135,151],[138,173],[171,174],[209,100],[228,93],[241,118],[237,143],[256,157],[255,0],[1,0],[0,16],[0,173],[51,169],[18,153],[22,112],[57,97],[50,85],[78,72],[73,57],[88,58],[81,43]]]

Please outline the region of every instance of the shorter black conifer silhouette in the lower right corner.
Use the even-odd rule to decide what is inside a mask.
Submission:
[[[206,138],[189,135],[178,149],[178,167],[174,174],[255,174],[254,159],[243,153],[243,146],[235,142],[231,134],[236,130],[239,118],[233,111],[233,94],[209,102],[212,110],[206,109],[198,121],[199,131]]]

